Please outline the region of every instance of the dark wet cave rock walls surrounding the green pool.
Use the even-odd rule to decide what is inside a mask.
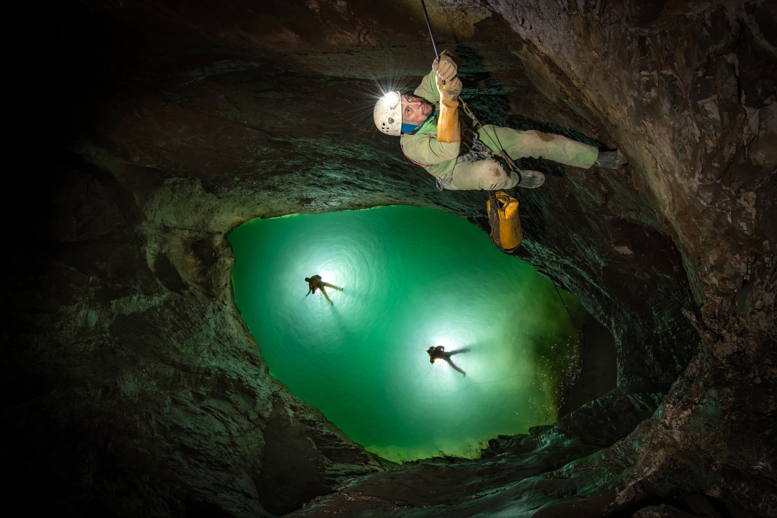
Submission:
[[[484,193],[438,193],[371,129],[375,80],[428,70],[416,2],[61,2],[36,15],[40,48],[16,64],[7,110],[28,165],[6,221],[30,233],[4,286],[9,502],[68,516],[775,513],[772,3],[429,8],[483,120],[629,158],[524,159],[547,181],[517,193],[516,256],[612,333],[618,388],[477,461],[399,467],[268,374],[232,300],[232,228],[395,203],[487,225]]]

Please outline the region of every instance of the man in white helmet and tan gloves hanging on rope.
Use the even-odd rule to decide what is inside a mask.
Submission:
[[[434,44],[431,26],[430,35]],[[462,82],[456,75],[461,58],[453,50],[437,54],[436,46],[435,54],[432,71],[413,95],[388,92],[376,103],[374,117],[379,130],[400,137],[407,158],[434,176],[438,188],[498,190],[541,186],[545,181],[542,173],[519,170],[514,158],[543,157],[583,169],[595,162],[610,168],[625,163],[619,151],[600,153],[594,146],[562,135],[480,124],[459,98]],[[461,116],[459,107],[467,117]],[[496,158],[503,158],[509,170]]]

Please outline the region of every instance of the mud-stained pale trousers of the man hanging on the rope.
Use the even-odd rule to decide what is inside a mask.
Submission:
[[[588,169],[596,161],[599,150],[594,146],[573,141],[563,135],[542,133],[537,130],[513,130],[486,124],[478,131],[479,139],[494,152],[504,150],[510,158],[547,158],[566,165]],[[508,174],[493,158],[462,162],[453,169],[453,178],[445,189],[510,189],[517,186],[516,173]]]

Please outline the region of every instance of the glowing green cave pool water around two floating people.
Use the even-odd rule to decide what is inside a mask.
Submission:
[[[254,220],[229,235],[242,317],[270,373],[393,461],[477,457],[556,421],[578,361],[556,290],[461,218],[419,207]],[[343,287],[305,297],[318,273]],[[585,310],[562,291],[577,322]],[[426,349],[453,356],[463,377]]]

